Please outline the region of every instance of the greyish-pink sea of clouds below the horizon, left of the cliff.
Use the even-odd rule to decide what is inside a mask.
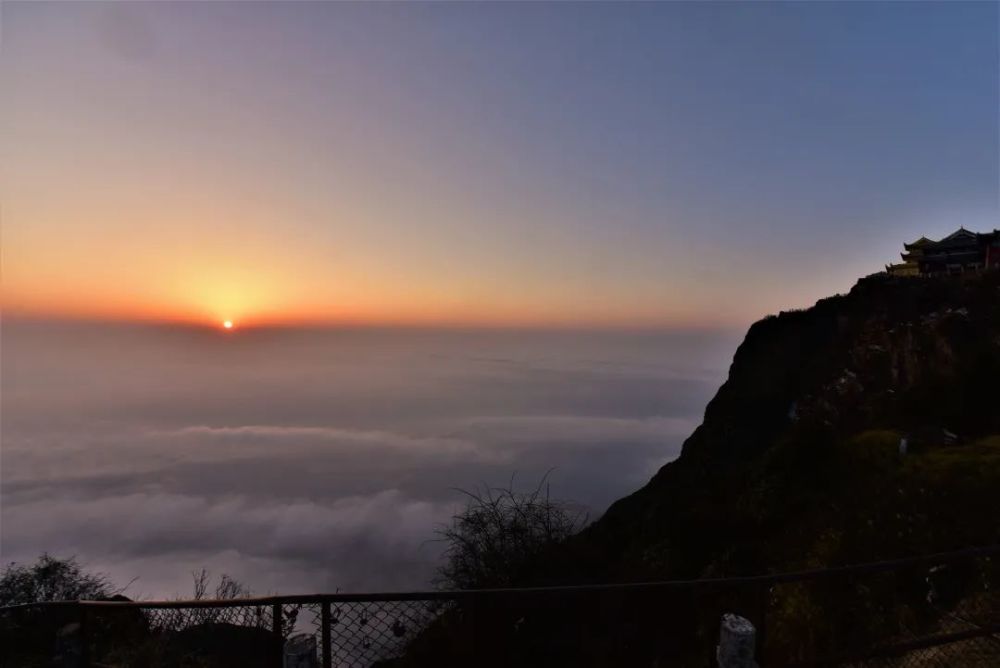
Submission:
[[[0,553],[128,593],[429,585],[456,488],[599,514],[674,458],[732,333],[213,330],[5,322]]]

